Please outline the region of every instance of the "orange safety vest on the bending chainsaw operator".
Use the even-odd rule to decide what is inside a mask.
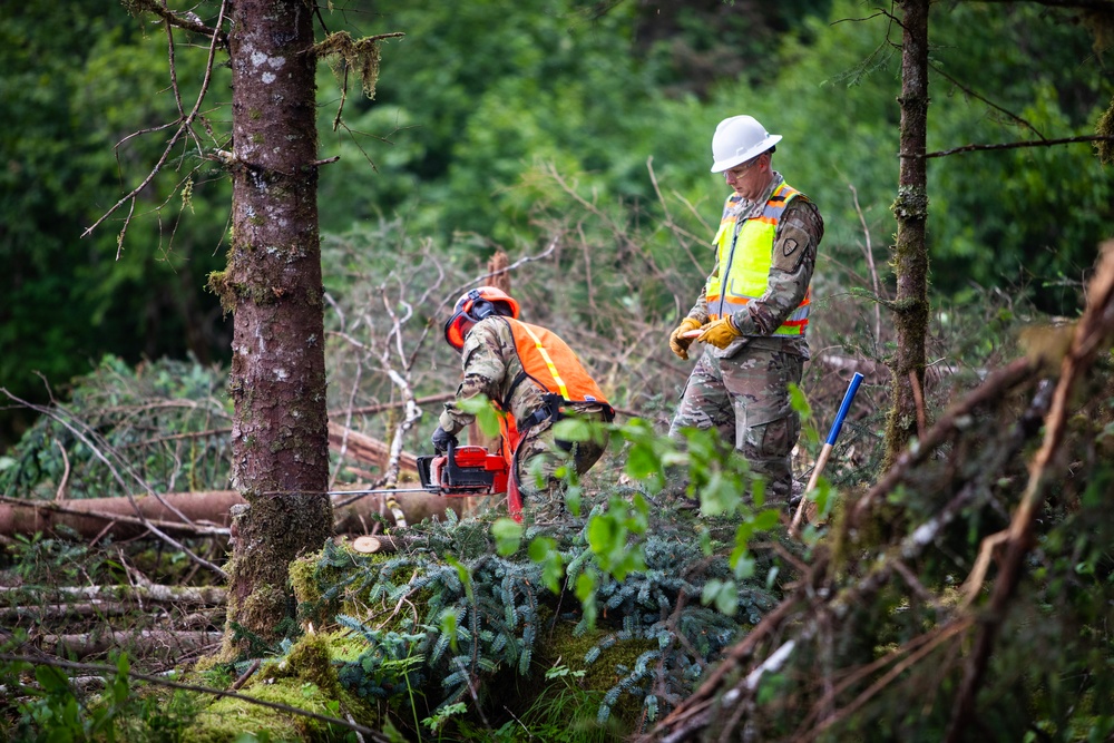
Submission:
[[[559,394],[565,402],[598,402],[608,411],[610,405],[573,349],[568,348],[556,333],[512,317],[499,317],[499,320],[510,325],[510,332],[515,336],[515,350],[522,364],[522,371],[511,383],[507,397],[497,402],[497,405],[507,413],[500,417],[502,458],[507,461],[507,466],[512,468],[520,436],[518,422],[509,414],[510,398],[524,381],[529,380],[550,394]]]

